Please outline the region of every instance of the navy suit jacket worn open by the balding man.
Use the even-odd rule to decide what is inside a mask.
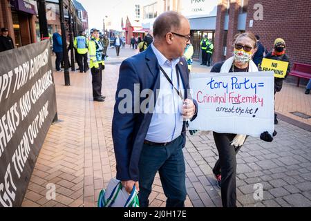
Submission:
[[[185,88],[185,99],[191,99],[191,95],[187,93],[187,89],[189,89],[187,61],[184,58],[180,58],[180,62],[177,66]],[[160,89],[160,68],[158,59],[151,46],[148,47],[147,50],[144,50],[144,52],[124,60],[120,66],[119,81],[117,83],[117,92],[115,95],[112,135],[115,158],[117,160],[117,180],[122,181],[138,181],[138,162],[140,160],[144,138],[147,135],[152,118],[152,113],[142,113],[141,111],[139,111],[140,113],[137,113],[138,111],[134,113],[135,104],[139,102],[140,105],[145,99],[144,97],[134,99],[134,84],[140,86],[139,92],[144,89],[153,90],[154,101],[156,101],[156,90]],[[131,113],[120,113],[118,110],[120,102],[125,97],[118,97],[122,89],[131,90]],[[123,103],[121,102],[121,104]],[[196,101],[194,101],[194,104],[198,110]],[[198,111],[196,111],[196,113],[198,113]],[[195,118],[196,115],[191,120]],[[182,136],[184,137],[185,146],[185,122],[182,127]]]

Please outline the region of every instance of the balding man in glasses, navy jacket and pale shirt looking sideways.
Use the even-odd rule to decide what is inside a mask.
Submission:
[[[198,112],[182,58],[189,34],[185,17],[164,12],[153,23],[153,44],[120,66],[112,126],[117,179],[129,193],[136,186],[142,207],[157,172],[167,207],[185,206],[185,121]]]

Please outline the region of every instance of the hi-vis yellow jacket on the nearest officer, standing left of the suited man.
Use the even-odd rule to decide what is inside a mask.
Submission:
[[[88,42],[88,52],[90,54],[90,68],[98,68],[99,64],[104,64],[103,56],[104,46],[100,39],[95,39],[91,37]]]

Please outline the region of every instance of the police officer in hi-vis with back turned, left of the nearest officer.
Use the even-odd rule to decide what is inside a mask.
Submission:
[[[88,71],[88,39],[85,37],[85,32],[79,32],[79,36],[75,37],[73,46],[77,49],[77,64],[80,73]],[[82,61],[83,60],[83,61]]]

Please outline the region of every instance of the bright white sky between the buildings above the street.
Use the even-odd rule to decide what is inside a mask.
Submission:
[[[122,12],[122,1],[126,0],[77,0],[88,12],[88,28],[102,30],[104,17],[110,16],[121,23],[120,12]]]

